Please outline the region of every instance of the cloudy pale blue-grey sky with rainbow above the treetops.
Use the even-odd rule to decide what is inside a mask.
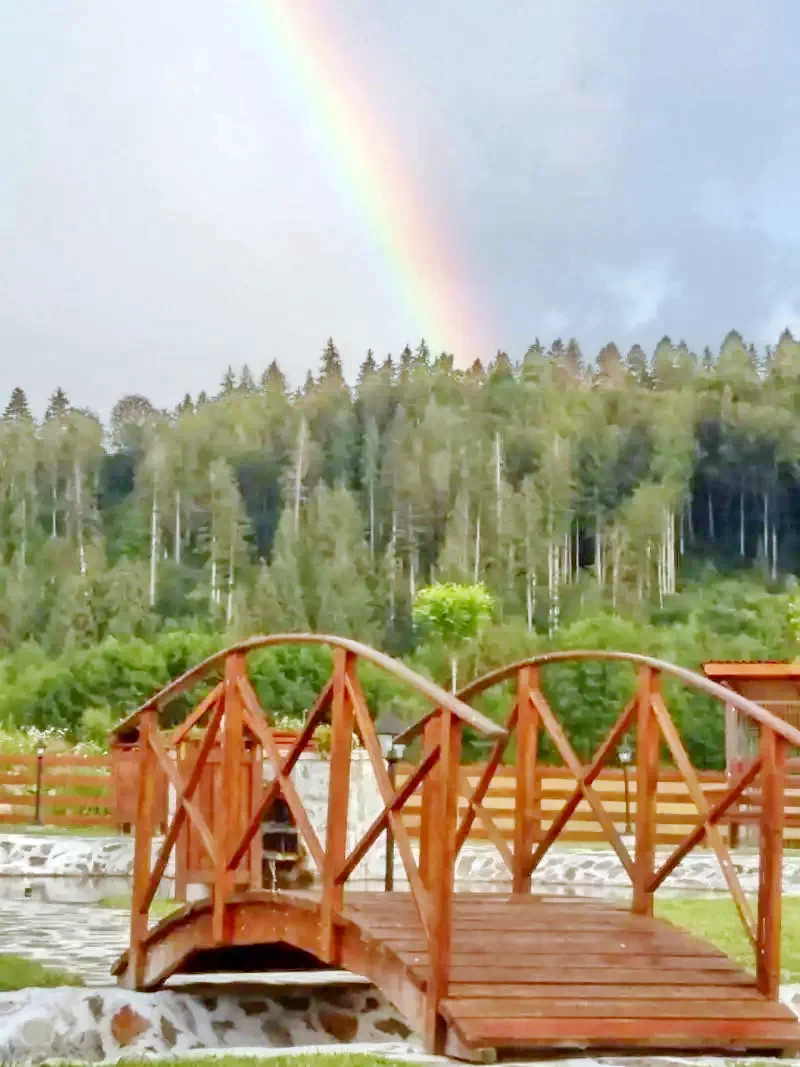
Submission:
[[[800,331],[796,0],[0,0],[0,403]]]

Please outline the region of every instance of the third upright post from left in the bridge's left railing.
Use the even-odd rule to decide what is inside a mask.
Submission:
[[[347,676],[354,671],[353,653],[336,649],[331,705],[331,777],[327,785],[327,828],[320,905],[320,957],[327,964],[336,962],[337,959],[337,920],[345,898],[345,887],[337,882],[337,876],[347,858],[348,796],[353,747],[353,702],[347,691]]]

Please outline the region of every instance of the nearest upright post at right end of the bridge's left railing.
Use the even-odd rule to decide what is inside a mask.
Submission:
[[[459,776],[461,774],[461,722],[452,712],[438,715],[442,755],[435,775],[436,848],[429,860],[431,923],[429,933],[430,973],[426,991],[425,1041],[428,1051],[442,1055],[446,1029],[439,1004],[447,997],[452,946],[452,895],[455,877],[455,831],[458,829]],[[429,776],[430,777],[430,776]]]

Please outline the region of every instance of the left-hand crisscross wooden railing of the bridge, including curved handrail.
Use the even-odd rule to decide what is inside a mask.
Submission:
[[[246,669],[249,653],[278,644],[317,644],[333,650],[332,674],[309,710],[297,740],[283,752],[278,748],[277,731],[261,707]],[[405,683],[432,705],[426,718],[419,764],[400,787],[391,784],[386,769],[358,678],[359,662],[370,663]],[[214,674],[222,678],[210,692],[176,729],[169,734],[162,733],[159,720],[164,708]],[[323,721],[330,722],[331,730],[324,843],[314,829],[292,781],[292,769],[309,749]],[[201,726],[205,729],[194,761],[188,766],[177,765],[171,750]],[[387,828],[391,830],[428,944],[430,975],[426,991],[426,1029],[433,1039],[441,1026],[438,1004],[446,994],[449,975],[461,743],[465,727],[495,740],[506,735],[502,727],[404,665],[356,641],[323,635],[253,638],[220,652],[167,685],[115,731],[117,736],[138,736],[141,761],[128,962],[131,983],[135,987],[142,985],[149,910],[187,822],[192,825],[213,869],[210,880],[212,937],[215,943],[223,945],[230,943],[234,937],[230,903],[237,887],[261,888],[261,867],[255,862],[260,828],[271,806],[281,796],[291,812],[321,883],[318,956],[326,962],[335,964],[339,958],[345,886],[382,833]],[[354,738],[361,742],[371,763],[383,810],[348,851]],[[243,794],[245,783],[240,773],[247,743],[260,748],[260,755],[272,771],[271,780],[255,799]],[[210,825],[195,794],[212,750],[221,750],[217,792],[220,802]],[[173,789],[175,813],[154,859],[158,770],[166,776]],[[401,813],[418,789],[422,790],[423,823],[428,831],[417,861]]]

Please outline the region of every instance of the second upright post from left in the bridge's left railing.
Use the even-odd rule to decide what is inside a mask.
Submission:
[[[222,727],[221,799],[215,812],[217,870],[213,882],[211,931],[213,940],[223,944],[228,936],[225,928],[226,906],[236,885],[236,871],[228,871],[228,860],[236,853],[242,834],[244,775],[244,723],[239,679],[244,674],[244,656],[234,653],[225,659],[225,713]],[[249,799],[249,798],[247,798]]]

